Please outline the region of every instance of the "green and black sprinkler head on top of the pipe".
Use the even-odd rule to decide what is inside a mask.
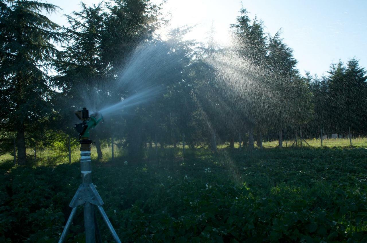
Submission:
[[[76,110],[75,115],[82,121],[79,124],[74,124],[75,130],[78,132],[79,139],[88,139],[89,130],[97,126],[98,123],[103,120],[103,116],[98,113],[89,116],[87,108]]]

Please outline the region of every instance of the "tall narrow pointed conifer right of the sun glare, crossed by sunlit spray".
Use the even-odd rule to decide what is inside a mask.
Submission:
[[[254,130],[262,130],[264,126],[264,117],[267,114],[267,102],[269,90],[266,87],[266,44],[267,38],[264,33],[264,23],[256,17],[251,22],[248,12],[241,8],[241,15],[237,18],[237,23],[231,25],[236,42],[236,49],[240,55],[242,84],[239,89],[243,90],[236,99],[241,106],[240,119],[248,131],[249,146],[252,148],[254,141]]]

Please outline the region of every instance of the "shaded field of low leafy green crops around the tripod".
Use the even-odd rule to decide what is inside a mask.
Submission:
[[[139,162],[103,152],[93,181],[123,242],[367,241],[363,146],[187,148],[185,156],[166,148]],[[0,157],[0,242],[58,240],[80,184],[77,150],[72,158],[45,150],[22,167]],[[112,242],[97,218],[103,242]],[[83,241],[80,208],[67,242]]]

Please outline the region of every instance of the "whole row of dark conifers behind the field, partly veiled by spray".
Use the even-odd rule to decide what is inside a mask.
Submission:
[[[97,111],[146,87],[159,92],[93,131],[99,159],[112,137],[140,157],[153,142],[215,151],[235,141],[252,149],[265,138],[281,146],[284,133],[300,130],[366,135],[366,71],[356,58],[331,64],[326,76],[303,76],[281,31],[269,35],[245,8],[222,47],[214,30],[207,43],[186,40],[187,27],[157,34],[169,20],[150,0],[80,6],[59,26],[47,18],[53,4],[0,1],[0,153],[16,147],[19,164],[26,147],[70,144],[73,110],[87,103]]]

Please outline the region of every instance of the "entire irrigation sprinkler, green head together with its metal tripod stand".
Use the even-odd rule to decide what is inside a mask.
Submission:
[[[65,228],[62,231],[59,243],[62,243],[69,231],[72,224],[73,217],[75,216],[76,209],[79,205],[84,206],[84,228],[86,232],[86,243],[102,243],[101,234],[99,233],[97,220],[94,214],[94,206],[97,206],[99,212],[102,214],[102,218],[107,224],[109,230],[112,233],[116,242],[121,243],[119,237],[116,234],[115,229],[109,221],[105,210],[102,205],[104,204],[101,196],[99,196],[97,189],[92,183],[92,166],[91,166],[91,144],[89,139],[89,131],[91,128],[97,126],[97,124],[103,120],[101,114],[95,114],[89,116],[89,111],[86,108],[82,110],[76,110],[75,115],[82,122],[75,124],[74,127],[79,134],[80,142],[80,170],[81,170],[81,184],[77,189],[73,199],[71,200],[69,207],[73,208]]]

